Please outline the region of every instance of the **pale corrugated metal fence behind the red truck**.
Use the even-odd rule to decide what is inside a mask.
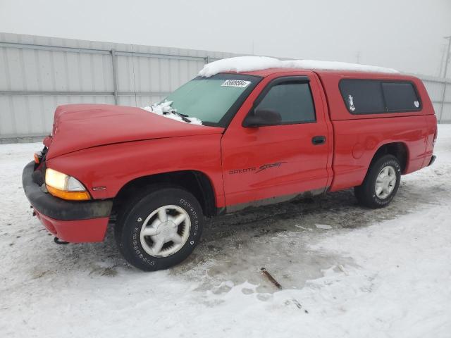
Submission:
[[[51,130],[56,106],[146,106],[236,54],[0,33],[0,143]],[[421,76],[420,76],[421,77]],[[440,117],[445,81],[421,77]],[[451,122],[451,80],[441,120]]]

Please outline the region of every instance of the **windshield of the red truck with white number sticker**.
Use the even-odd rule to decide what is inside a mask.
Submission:
[[[240,74],[217,74],[196,77],[183,84],[162,101],[171,101],[171,108],[203,125],[226,127],[242,101],[261,80]]]

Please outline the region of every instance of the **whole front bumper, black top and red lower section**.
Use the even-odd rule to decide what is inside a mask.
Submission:
[[[23,168],[22,184],[37,218],[52,234],[66,242],[101,242],[113,201],[65,201],[44,192],[34,182],[35,162]]]

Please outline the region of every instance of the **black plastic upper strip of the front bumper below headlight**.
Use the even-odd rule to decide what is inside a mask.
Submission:
[[[32,174],[35,162],[25,165],[22,173],[22,185],[30,204],[39,213],[55,220],[89,220],[91,218],[109,217],[113,201],[65,201],[43,192],[38,184],[33,182]]]

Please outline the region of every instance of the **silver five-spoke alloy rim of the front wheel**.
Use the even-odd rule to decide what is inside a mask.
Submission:
[[[168,257],[182,249],[190,237],[190,215],[180,206],[161,206],[142,224],[142,249],[154,257]]]

